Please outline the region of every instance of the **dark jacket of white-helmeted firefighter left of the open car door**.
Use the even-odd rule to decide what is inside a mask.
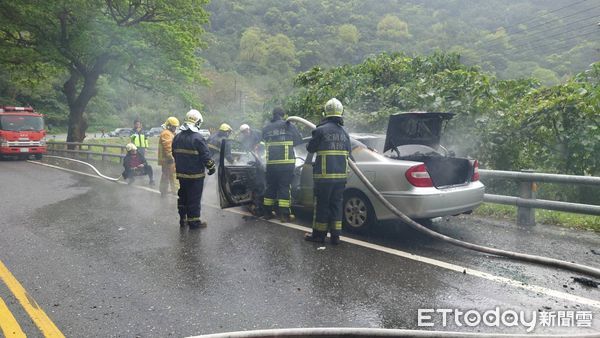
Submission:
[[[204,178],[205,169],[214,169],[206,141],[199,133],[184,130],[173,139],[172,155],[178,179]]]

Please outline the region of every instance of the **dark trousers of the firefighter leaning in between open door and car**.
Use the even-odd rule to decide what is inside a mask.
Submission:
[[[274,210],[279,206],[280,216],[290,214],[292,179],[294,167],[277,164],[277,169],[267,166],[265,198],[263,204],[266,212]],[[281,167],[279,167],[281,166]]]

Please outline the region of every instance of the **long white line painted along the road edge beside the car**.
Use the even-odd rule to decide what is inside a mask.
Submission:
[[[41,163],[41,162],[35,162],[35,161],[29,161],[30,163],[35,163],[35,164],[39,164],[39,165],[43,165],[43,166],[47,166],[47,167],[51,167],[51,168],[55,168],[55,169],[59,169],[59,170],[64,170],[64,171],[68,171],[71,173],[75,173],[75,174],[80,174],[80,175],[85,175],[85,176],[90,176],[90,177],[95,177],[101,180],[104,180],[103,178],[96,176],[96,175],[91,175],[91,174],[87,174],[87,173],[82,173],[79,171],[75,171],[75,170],[71,170],[71,169],[65,169],[65,168],[61,168],[58,166],[54,166],[54,165],[50,165],[50,164],[45,164],[45,163]],[[125,182],[118,182],[118,183],[123,183],[125,184]],[[132,186],[138,189],[143,189],[146,191],[150,191],[150,192],[154,192],[154,193],[159,193],[160,192],[158,190],[155,189],[150,189],[147,187],[141,187],[141,186]],[[207,203],[203,203],[203,205],[211,207],[211,208],[215,208],[215,209],[219,209],[222,210],[218,205],[214,205],[214,204],[207,204]],[[231,212],[231,213],[235,213],[235,214],[239,214],[239,215],[244,215],[244,216],[252,216],[251,213],[249,212],[245,212],[242,210],[236,210],[236,209],[227,209],[227,210],[222,210],[224,212]],[[300,230],[300,231],[305,231],[305,232],[309,232],[311,231],[310,228],[302,226],[302,225],[298,225],[298,224],[292,224],[292,223],[283,223],[277,220],[268,220],[266,222],[271,222],[271,223],[275,223],[275,224],[279,224],[282,226],[285,226],[287,228],[290,229],[295,229],[295,230]],[[506,277],[501,277],[501,276],[496,276],[487,272],[483,272],[483,271],[479,271],[479,270],[474,270],[471,268],[467,268],[464,266],[460,266],[460,265],[456,265],[456,264],[452,264],[452,263],[447,263],[444,261],[440,261],[437,259],[433,259],[433,258],[428,258],[425,256],[419,256],[416,254],[412,254],[406,251],[402,251],[402,250],[397,250],[397,249],[392,249],[392,248],[388,248],[385,246],[381,246],[378,244],[373,244],[373,243],[369,243],[369,242],[365,242],[365,241],[361,241],[358,239],[354,239],[354,238],[349,238],[349,237],[345,237],[345,236],[340,236],[340,240],[346,243],[350,243],[350,244],[354,244],[357,246],[361,246],[364,248],[368,248],[368,249],[372,249],[372,250],[376,250],[376,251],[380,251],[380,252],[385,252],[394,256],[398,256],[398,257],[403,257],[406,259],[410,259],[413,261],[417,261],[417,262],[421,262],[421,263],[425,263],[425,264],[429,264],[429,265],[433,265],[433,266],[437,266],[446,270],[451,270],[451,271],[455,271],[455,272],[459,272],[462,274],[467,274],[467,275],[471,275],[471,276],[475,276],[475,277],[479,277],[479,278],[483,278],[483,279],[487,279],[499,284],[505,284],[505,285],[509,285],[515,288],[519,288],[519,289],[524,289],[527,291],[531,291],[537,294],[544,294],[550,297],[555,297],[555,298],[560,298],[560,299],[564,299],[564,300],[568,300],[568,301],[572,301],[575,303],[579,303],[579,304],[584,304],[584,305],[588,305],[591,307],[595,307],[595,308],[600,308],[600,300],[594,300],[594,299],[589,299],[589,298],[585,298],[585,297],[580,297],[580,296],[576,296],[576,295],[571,295],[565,292],[561,292],[561,291],[556,291],[556,290],[552,290],[552,289],[548,289],[542,286],[537,286],[537,285],[531,285],[531,284],[525,284],[523,282],[519,282],[517,280],[514,279],[510,279],[510,278],[506,278]]]

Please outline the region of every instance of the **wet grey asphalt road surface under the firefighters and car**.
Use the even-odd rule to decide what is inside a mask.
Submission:
[[[141,182],[140,182],[141,183]],[[222,211],[214,178],[206,184],[207,229],[180,230],[174,198],[29,162],[0,162],[0,260],[67,337],[190,336],[290,327],[417,326],[420,308],[499,307],[591,311],[591,328],[543,327],[535,333],[600,332],[600,290],[575,273],[470,252],[394,222],[354,239],[470,270],[583,297],[582,304],[471,273],[348,243],[304,242],[302,232]],[[299,223],[310,216],[300,213]],[[548,226],[452,217],[445,234],[600,267],[600,235]],[[593,251],[592,251],[593,250]],[[41,336],[0,283],[0,298],[23,330]],[[435,330],[524,333],[523,326]],[[426,328],[420,328],[426,329]]]

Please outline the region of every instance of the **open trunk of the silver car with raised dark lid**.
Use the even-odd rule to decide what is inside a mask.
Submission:
[[[444,156],[436,150],[444,122],[453,116],[425,112],[390,115],[384,152],[395,150],[397,156],[391,158],[425,163],[436,188],[468,183],[473,174],[472,161]]]

